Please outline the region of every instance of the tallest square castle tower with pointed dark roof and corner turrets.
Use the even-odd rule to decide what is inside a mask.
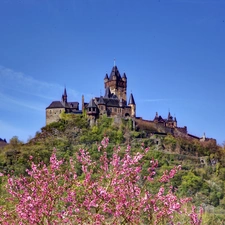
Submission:
[[[113,66],[110,76],[106,74],[104,78],[105,88],[109,88],[110,92],[127,102],[127,77],[123,74],[121,77],[117,66]]]

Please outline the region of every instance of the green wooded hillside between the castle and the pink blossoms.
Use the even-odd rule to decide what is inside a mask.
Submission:
[[[192,197],[196,205],[202,205],[208,212],[204,218],[207,223],[225,221],[225,147],[212,141],[199,142],[172,135],[148,136],[147,130],[133,130],[129,119],[115,123],[112,118],[103,116],[95,126],[89,127],[85,115],[61,114],[59,122],[41,128],[27,144],[13,137],[0,151],[0,172],[16,176],[26,174],[26,168],[30,168],[30,155],[34,162],[48,164],[53,148],[57,149],[57,157],[65,160],[75,158],[81,148],[88,149],[91,157],[98,160],[98,143],[104,136],[110,139],[108,156],[112,155],[115,145],[121,147],[121,156],[128,144],[133,153],[140,148],[150,148],[143,159],[143,176],[148,173],[152,158],[159,160],[156,176],[165,169],[181,165],[182,170],[172,180],[179,196]],[[77,169],[80,169],[79,165]],[[0,180],[0,192],[3,184]],[[158,184],[154,185],[157,190]]]

